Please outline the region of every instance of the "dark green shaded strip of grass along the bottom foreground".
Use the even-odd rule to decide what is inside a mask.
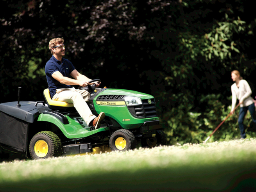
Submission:
[[[109,171],[58,178],[44,176],[20,182],[4,182],[1,192],[252,192],[256,189],[255,162],[216,163],[184,167],[138,169],[134,172]],[[35,170],[40,171],[40,170]]]

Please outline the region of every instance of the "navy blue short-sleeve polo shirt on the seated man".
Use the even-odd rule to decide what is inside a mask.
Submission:
[[[61,84],[55,78],[52,77],[52,73],[59,71],[63,76],[70,77],[70,73],[75,70],[72,62],[68,59],[62,58],[61,61],[57,60],[53,55],[45,65],[45,75],[47,78],[48,89],[50,90],[51,98],[55,95],[56,89],[72,88],[72,85]]]

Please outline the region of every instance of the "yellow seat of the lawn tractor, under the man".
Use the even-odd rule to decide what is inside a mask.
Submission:
[[[50,109],[66,109],[68,107],[74,107],[73,103],[52,100],[49,89],[45,89],[43,91],[43,96],[45,97],[45,101]]]

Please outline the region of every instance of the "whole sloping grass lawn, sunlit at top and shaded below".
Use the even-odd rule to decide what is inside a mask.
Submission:
[[[256,139],[0,163],[0,191],[255,191]]]

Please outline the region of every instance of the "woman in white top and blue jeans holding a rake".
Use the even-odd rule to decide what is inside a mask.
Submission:
[[[255,123],[256,128],[256,114],[255,114],[255,106],[252,100],[251,94],[252,90],[246,80],[240,76],[239,71],[235,70],[231,72],[231,78],[235,82],[231,86],[232,92],[232,107],[231,107],[231,114],[234,113],[234,108],[236,106],[236,100],[239,100],[240,104],[240,112],[238,116],[238,126],[241,132],[241,139],[245,138],[245,128],[243,125],[243,119],[247,113],[247,110],[250,111],[252,116],[252,121]]]

